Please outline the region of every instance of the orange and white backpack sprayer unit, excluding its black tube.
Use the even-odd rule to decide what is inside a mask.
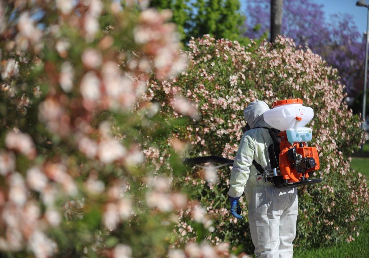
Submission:
[[[307,144],[312,139],[312,129],[305,127],[313,119],[314,111],[302,104],[298,98],[276,101],[264,113],[265,122],[280,130],[278,164],[272,167],[273,174],[266,173],[265,178],[282,176],[283,181],[279,180],[282,187],[321,182],[321,179],[309,179],[310,172],[318,170],[320,165],[317,149]]]

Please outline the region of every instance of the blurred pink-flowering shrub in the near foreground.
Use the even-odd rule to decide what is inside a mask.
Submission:
[[[170,12],[145,4],[0,1],[1,256],[229,257],[227,244],[169,248],[177,214],[199,205],[169,177],[184,171],[168,137],[180,119],[138,100],[186,56]]]

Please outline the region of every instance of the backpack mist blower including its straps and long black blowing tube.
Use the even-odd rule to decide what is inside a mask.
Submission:
[[[276,101],[272,109],[265,111],[264,120],[268,125],[273,143],[268,147],[270,168],[262,168],[254,160],[259,174],[265,182],[272,182],[278,188],[315,184],[321,178],[311,178],[313,171],[318,170],[319,155],[315,147],[309,147],[307,142],[312,139],[312,129],[304,127],[313,119],[314,111],[302,105],[300,99]],[[184,158],[184,164],[201,164],[215,162],[232,166],[233,160],[206,156]]]

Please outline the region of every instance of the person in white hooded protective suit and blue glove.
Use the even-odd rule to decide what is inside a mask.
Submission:
[[[253,165],[268,167],[268,147],[272,144],[263,114],[269,110],[263,101],[251,102],[244,110],[251,129],[239,143],[231,172],[228,195],[231,214],[242,219],[239,197],[245,193],[249,208],[249,225],[256,257],[288,258],[293,255],[298,212],[297,188],[277,188],[265,182]]]

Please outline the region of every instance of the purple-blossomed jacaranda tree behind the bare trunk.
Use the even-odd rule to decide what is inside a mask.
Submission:
[[[260,38],[269,33],[270,0],[249,0],[245,36]],[[362,90],[365,41],[349,14],[325,19],[323,6],[311,0],[284,0],[282,34],[296,45],[307,46],[337,68],[349,95]]]

